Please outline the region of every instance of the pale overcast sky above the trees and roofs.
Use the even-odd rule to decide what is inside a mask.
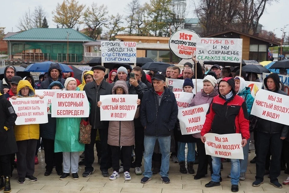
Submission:
[[[94,1],[94,2],[104,2],[109,9],[109,14],[124,14],[125,7],[131,0],[105,0],[105,1]],[[195,0],[197,1],[197,0]],[[30,7],[31,11],[38,5],[42,5],[48,15],[48,25],[49,28],[55,28],[56,24],[52,22],[51,12],[55,9],[57,3],[63,2],[62,0],[2,0],[0,2],[1,11],[0,11],[0,26],[6,27],[5,33],[19,31],[16,27],[19,17],[25,13]],[[82,4],[85,4],[86,7],[90,6],[93,0],[79,0]],[[149,2],[149,0],[140,0],[141,3]],[[196,17],[193,13],[194,5],[191,3],[192,0],[187,0],[187,10],[188,17]],[[273,31],[275,28],[283,28],[284,25],[289,24],[288,18],[288,7],[289,0],[279,0],[278,3],[272,3],[272,5],[266,6],[266,12],[261,17],[259,23],[261,23],[268,31]],[[82,26],[80,27],[82,29]],[[285,28],[285,32],[289,32],[289,26]],[[282,32],[280,29],[275,30],[277,37],[281,38]]]

